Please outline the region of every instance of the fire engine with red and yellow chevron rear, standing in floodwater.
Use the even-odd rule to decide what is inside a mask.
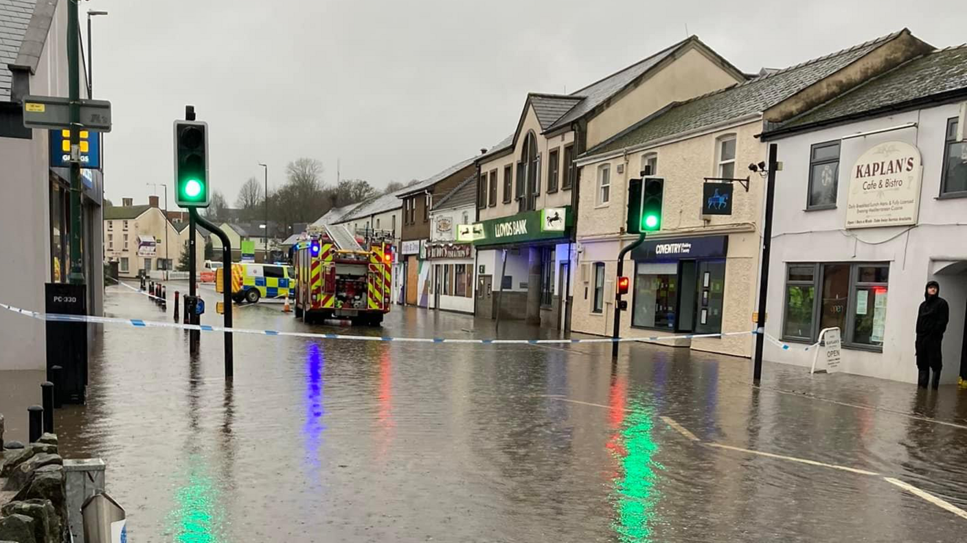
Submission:
[[[392,232],[309,226],[296,247],[297,319],[348,318],[368,326],[383,322],[393,288]]]

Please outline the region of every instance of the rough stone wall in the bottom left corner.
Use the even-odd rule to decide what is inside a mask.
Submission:
[[[44,434],[37,443],[6,449],[0,463],[0,541],[64,541],[66,482],[57,436]]]

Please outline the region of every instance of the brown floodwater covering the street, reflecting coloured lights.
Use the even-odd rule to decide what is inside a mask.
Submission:
[[[112,315],[165,318],[127,289],[108,293]],[[214,309],[214,292],[202,295]],[[279,309],[237,307],[236,326],[492,334],[490,322],[425,309],[396,306],[381,330],[306,327]],[[133,541],[952,542],[967,533],[967,517],[885,478],[967,508],[967,393],[951,386],[923,393],[767,364],[756,388],[747,359],[650,345],[623,345],[612,362],[606,344],[245,334],[226,383],[221,343],[203,333],[190,357],[182,330],[107,326],[88,404],[57,412],[62,452],[107,462],[107,490],[127,508]]]

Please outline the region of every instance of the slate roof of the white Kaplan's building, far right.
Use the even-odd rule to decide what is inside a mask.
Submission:
[[[917,57],[771,131],[829,123],[958,91],[967,93],[967,44]]]

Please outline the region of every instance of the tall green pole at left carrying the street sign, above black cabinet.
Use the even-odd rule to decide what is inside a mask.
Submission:
[[[80,29],[77,2],[67,3],[68,99],[71,113],[71,284],[84,284],[84,263],[80,253]]]

